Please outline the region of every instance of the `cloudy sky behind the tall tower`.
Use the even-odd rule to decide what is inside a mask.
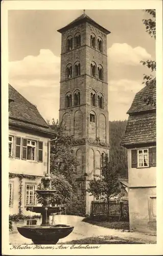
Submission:
[[[37,106],[45,120],[59,117],[61,34],[58,29],[83,10],[9,10],[9,83]],[[85,10],[107,35],[109,120],[125,120],[155,59],[155,40],[146,32],[143,10]]]

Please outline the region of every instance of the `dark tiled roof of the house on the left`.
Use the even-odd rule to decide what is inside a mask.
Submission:
[[[48,126],[36,106],[19,94],[10,84],[9,100],[12,100],[10,102],[9,125],[18,125],[20,127],[54,134],[54,130]]]

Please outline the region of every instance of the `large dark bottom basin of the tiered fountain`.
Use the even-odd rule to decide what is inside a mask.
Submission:
[[[73,231],[73,226],[57,224],[51,226],[31,225],[17,227],[18,232],[34,244],[56,244]]]

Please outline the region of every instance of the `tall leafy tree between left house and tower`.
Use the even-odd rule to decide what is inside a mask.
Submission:
[[[64,125],[58,120],[55,122],[52,119],[50,126],[58,134],[57,140],[51,142],[50,172],[53,175],[64,176],[76,193],[78,187],[76,166],[78,163],[72,150],[73,138],[64,134]]]

